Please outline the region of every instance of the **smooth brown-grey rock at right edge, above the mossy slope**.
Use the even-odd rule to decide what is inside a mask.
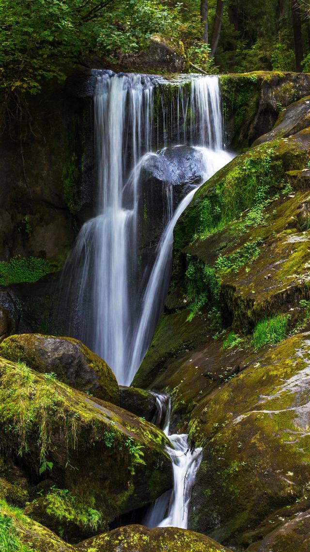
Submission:
[[[291,136],[308,126],[310,126],[310,96],[306,96],[283,109],[274,128],[255,140],[254,146],[276,138]]]

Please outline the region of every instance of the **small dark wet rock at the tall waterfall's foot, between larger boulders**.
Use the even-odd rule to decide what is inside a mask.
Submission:
[[[144,417],[148,422],[154,423],[157,411],[156,397],[144,389],[125,387],[120,385],[120,406],[129,410],[136,416]]]

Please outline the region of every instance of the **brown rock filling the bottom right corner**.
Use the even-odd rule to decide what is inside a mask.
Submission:
[[[310,546],[310,510],[301,512],[282,523],[262,541],[247,548],[246,552],[308,552]]]

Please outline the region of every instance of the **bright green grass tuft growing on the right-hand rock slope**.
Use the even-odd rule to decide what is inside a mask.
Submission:
[[[253,331],[252,345],[259,349],[266,344],[280,343],[287,336],[290,315],[276,315],[258,322]]]

